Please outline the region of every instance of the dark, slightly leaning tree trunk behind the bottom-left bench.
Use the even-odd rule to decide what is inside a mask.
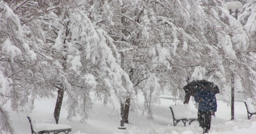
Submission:
[[[58,89],[58,97],[57,97],[57,101],[54,109],[54,118],[57,124],[60,118],[60,109],[62,108],[63,96],[64,96],[64,89]]]

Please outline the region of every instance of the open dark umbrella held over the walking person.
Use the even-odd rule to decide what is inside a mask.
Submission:
[[[183,89],[185,90],[186,94],[194,96],[194,93],[196,93],[198,90],[201,90],[203,86],[206,86],[206,88],[212,91],[214,94],[219,93],[218,86],[207,80],[193,80],[185,87],[183,87]]]

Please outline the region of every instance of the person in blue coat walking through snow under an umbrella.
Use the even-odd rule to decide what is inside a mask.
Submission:
[[[202,86],[201,90],[196,91],[194,100],[198,102],[198,121],[204,133],[208,133],[211,128],[212,115],[217,111],[217,101],[215,94]]]

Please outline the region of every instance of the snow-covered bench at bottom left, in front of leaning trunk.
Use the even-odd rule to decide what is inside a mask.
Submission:
[[[54,134],[59,134],[60,132],[68,134],[71,132],[71,126],[56,124],[53,115],[33,113],[28,114],[27,118],[29,119],[32,134],[50,134],[50,132]]]

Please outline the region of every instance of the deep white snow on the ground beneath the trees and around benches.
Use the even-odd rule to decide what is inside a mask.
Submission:
[[[173,126],[173,119],[169,105],[181,104],[181,101],[161,99],[161,104],[155,104],[154,119],[146,118],[142,115],[143,97],[139,97],[139,107],[129,114],[129,123],[125,124],[126,130],[117,129],[119,125],[118,114],[114,112],[111,104],[104,106],[102,102],[95,101],[92,112],[87,123],[80,123],[79,119],[71,121],[65,119],[67,111],[62,108],[59,124],[66,124],[72,127],[69,134],[202,134],[202,128],[197,121],[192,122],[187,127],[183,123]],[[216,117],[212,117],[212,127],[210,134],[256,134],[256,115],[250,120],[247,119],[247,112],[243,102],[235,102],[235,120],[231,119],[231,110],[223,101],[217,101],[218,109]],[[46,99],[35,101],[34,112],[52,113],[54,111],[55,100]],[[197,112],[190,101],[191,109]],[[27,113],[14,113],[10,111],[12,124],[17,134],[30,134],[31,129],[26,117]]]

